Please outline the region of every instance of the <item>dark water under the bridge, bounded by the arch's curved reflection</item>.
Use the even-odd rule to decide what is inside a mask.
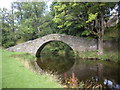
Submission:
[[[37,63],[44,71],[62,74],[73,67],[75,59],[73,56],[44,54],[42,57],[37,58]]]

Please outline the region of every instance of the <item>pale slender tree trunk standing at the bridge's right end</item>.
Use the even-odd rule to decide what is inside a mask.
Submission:
[[[104,38],[104,15],[101,12],[101,28],[100,36],[98,37],[98,55],[103,54],[103,38]]]

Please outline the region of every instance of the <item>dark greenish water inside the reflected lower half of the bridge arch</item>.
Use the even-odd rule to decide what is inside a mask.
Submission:
[[[55,71],[58,73],[63,73],[67,70],[69,70],[74,62],[72,60],[64,60],[64,58],[60,59],[50,59],[48,57],[46,58],[39,58],[37,60],[38,65],[43,69],[43,70],[50,70],[50,71]]]

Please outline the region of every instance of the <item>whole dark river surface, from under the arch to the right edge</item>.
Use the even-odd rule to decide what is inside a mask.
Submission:
[[[71,73],[79,81],[94,79],[102,85],[120,89],[120,65],[114,62],[98,60],[75,60],[72,56],[43,55],[37,59],[38,65],[45,71],[57,72],[59,75]]]

